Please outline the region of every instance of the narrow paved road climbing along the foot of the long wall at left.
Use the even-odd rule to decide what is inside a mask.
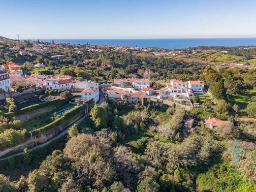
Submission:
[[[99,91],[99,101],[98,103],[101,104],[105,101],[105,98],[104,98],[104,94]],[[44,147],[45,145],[48,145],[49,143],[51,143],[52,141],[60,138],[61,136],[63,136],[64,134],[67,133],[67,130],[72,127],[74,124],[80,124],[83,120],[85,120],[88,116],[90,115],[90,112],[88,114],[86,114],[85,116],[83,116],[82,118],[80,118],[79,120],[77,120],[76,122],[74,122],[72,125],[70,125],[68,128],[65,128],[62,132],[60,132],[58,135],[56,135],[55,137],[51,138],[50,140],[40,144],[40,145],[37,145],[36,147],[34,147],[34,149],[37,149],[37,148],[40,148],[40,147]],[[29,151],[32,151],[33,149],[29,149]],[[11,158],[11,157],[14,157],[14,156],[18,156],[18,155],[22,155],[23,152],[20,152],[20,153],[17,153],[17,154],[14,154],[12,156],[8,156],[6,158],[2,158],[0,160],[6,160],[8,158]]]

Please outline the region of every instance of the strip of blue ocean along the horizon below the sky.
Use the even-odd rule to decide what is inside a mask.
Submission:
[[[28,39],[23,39],[28,40]],[[31,39],[37,40],[37,39]],[[185,49],[205,46],[256,46],[256,38],[170,38],[170,39],[39,39],[43,42],[59,42],[91,45],[122,45],[158,47],[164,49]]]

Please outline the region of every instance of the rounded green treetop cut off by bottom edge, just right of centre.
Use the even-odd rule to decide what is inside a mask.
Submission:
[[[137,192],[159,192],[159,184],[152,178],[143,179],[137,187]]]

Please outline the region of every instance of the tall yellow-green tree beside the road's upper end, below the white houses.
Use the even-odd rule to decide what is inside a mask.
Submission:
[[[106,128],[108,122],[107,111],[95,104],[91,110],[91,119],[93,120],[96,129]]]

